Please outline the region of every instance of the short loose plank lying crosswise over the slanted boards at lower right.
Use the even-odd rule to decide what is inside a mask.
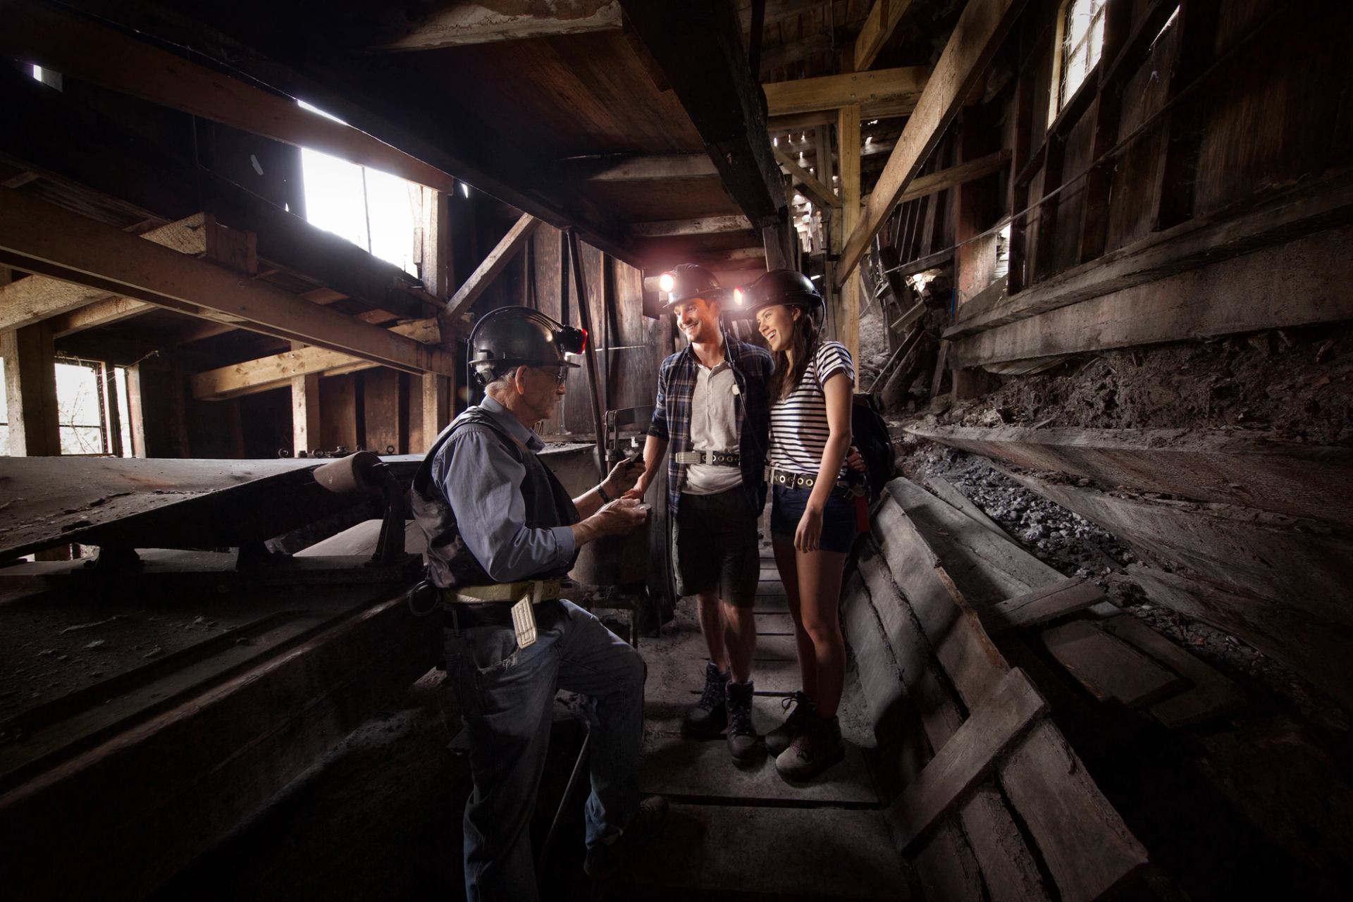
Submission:
[[[897,842],[909,848],[1046,711],[1047,702],[1024,672],[1007,671],[992,694],[893,803]]]

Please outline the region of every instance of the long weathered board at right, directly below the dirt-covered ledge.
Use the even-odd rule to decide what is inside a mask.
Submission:
[[[909,426],[907,431],[1030,469],[1353,525],[1349,448],[1237,429]]]

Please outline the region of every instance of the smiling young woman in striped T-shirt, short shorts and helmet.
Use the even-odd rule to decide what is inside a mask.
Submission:
[[[819,335],[823,299],[804,275],[779,269],[748,289],[750,310],[774,358],[770,415],[771,542],[794,619],[804,688],[766,736],[775,768],[806,780],[844,756],[836,706],[846,682],[842,569],[856,533],[848,483],[855,365],[840,342]]]

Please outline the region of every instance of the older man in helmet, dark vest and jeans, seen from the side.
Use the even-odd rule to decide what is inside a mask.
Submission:
[[[639,798],[644,661],[580,607],[559,598],[578,546],[644,521],[614,499],[633,475],[621,461],[578,498],[537,458],[532,423],[564,394],[564,352],[584,337],[526,307],[486,315],[469,335],[484,400],[457,417],[414,476],[429,579],[441,590],[446,675],[469,733],[474,794],[465,805],[465,898],[536,898],[530,814],[559,688],[595,702],[587,859],[609,876],[662,825],[667,803]]]

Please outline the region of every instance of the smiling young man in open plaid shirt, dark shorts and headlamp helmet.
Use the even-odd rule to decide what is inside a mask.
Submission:
[[[709,737],[727,723],[728,751],[746,763],[758,748],[752,600],[760,573],[756,519],[766,502],[770,354],[724,333],[718,314],[727,289],[712,272],[682,264],[670,276],[667,308],[690,343],[659,369],[645,469],[626,495],[643,498],[670,445],[676,590],[695,596],[709,646],[705,690],[682,726]]]

